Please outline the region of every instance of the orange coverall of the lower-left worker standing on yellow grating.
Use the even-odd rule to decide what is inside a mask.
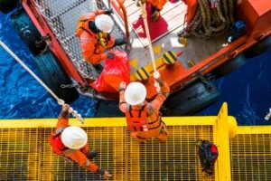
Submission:
[[[59,117],[55,133],[59,133],[63,131],[63,129],[69,127],[69,112],[61,112],[61,115]],[[61,136],[60,136],[61,138]],[[101,169],[98,168],[97,165],[89,161],[87,155],[89,153],[89,145],[87,145],[83,148],[80,148],[79,150],[70,149],[67,148],[62,152],[62,155],[64,157],[69,157],[71,160],[75,161],[79,164],[80,167],[85,167],[91,172],[100,172]]]

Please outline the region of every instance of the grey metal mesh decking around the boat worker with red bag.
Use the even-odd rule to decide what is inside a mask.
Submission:
[[[93,12],[98,7],[106,9],[106,5],[91,0],[34,0],[34,2],[81,75],[85,78],[97,79],[98,72],[90,63],[83,61],[79,38],[74,33],[82,14]],[[115,38],[124,37],[117,24],[113,29],[113,35]]]

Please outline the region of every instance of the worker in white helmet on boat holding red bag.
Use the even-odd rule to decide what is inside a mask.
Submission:
[[[114,22],[109,14],[112,13],[112,9],[97,10],[79,18],[75,35],[79,37],[85,61],[98,65],[107,58],[114,59],[114,53],[105,51],[126,43],[125,39],[115,39],[111,34]]]

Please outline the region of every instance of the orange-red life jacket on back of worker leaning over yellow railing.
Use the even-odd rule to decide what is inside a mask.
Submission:
[[[140,110],[133,110],[129,105],[126,110],[126,122],[130,131],[148,131],[147,111],[145,105]]]

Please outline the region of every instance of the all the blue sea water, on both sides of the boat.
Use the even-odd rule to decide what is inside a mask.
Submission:
[[[0,39],[33,71],[33,56],[24,46],[10,22],[0,14]],[[239,125],[270,124],[265,121],[271,107],[271,52],[266,52],[229,76],[216,81],[221,90],[218,102],[197,115],[216,115],[223,101],[229,104],[229,114]],[[61,110],[51,95],[0,48],[0,119],[55,118]],[[94,116],[95,101],[80,97],[71,106],[83,117]]]

